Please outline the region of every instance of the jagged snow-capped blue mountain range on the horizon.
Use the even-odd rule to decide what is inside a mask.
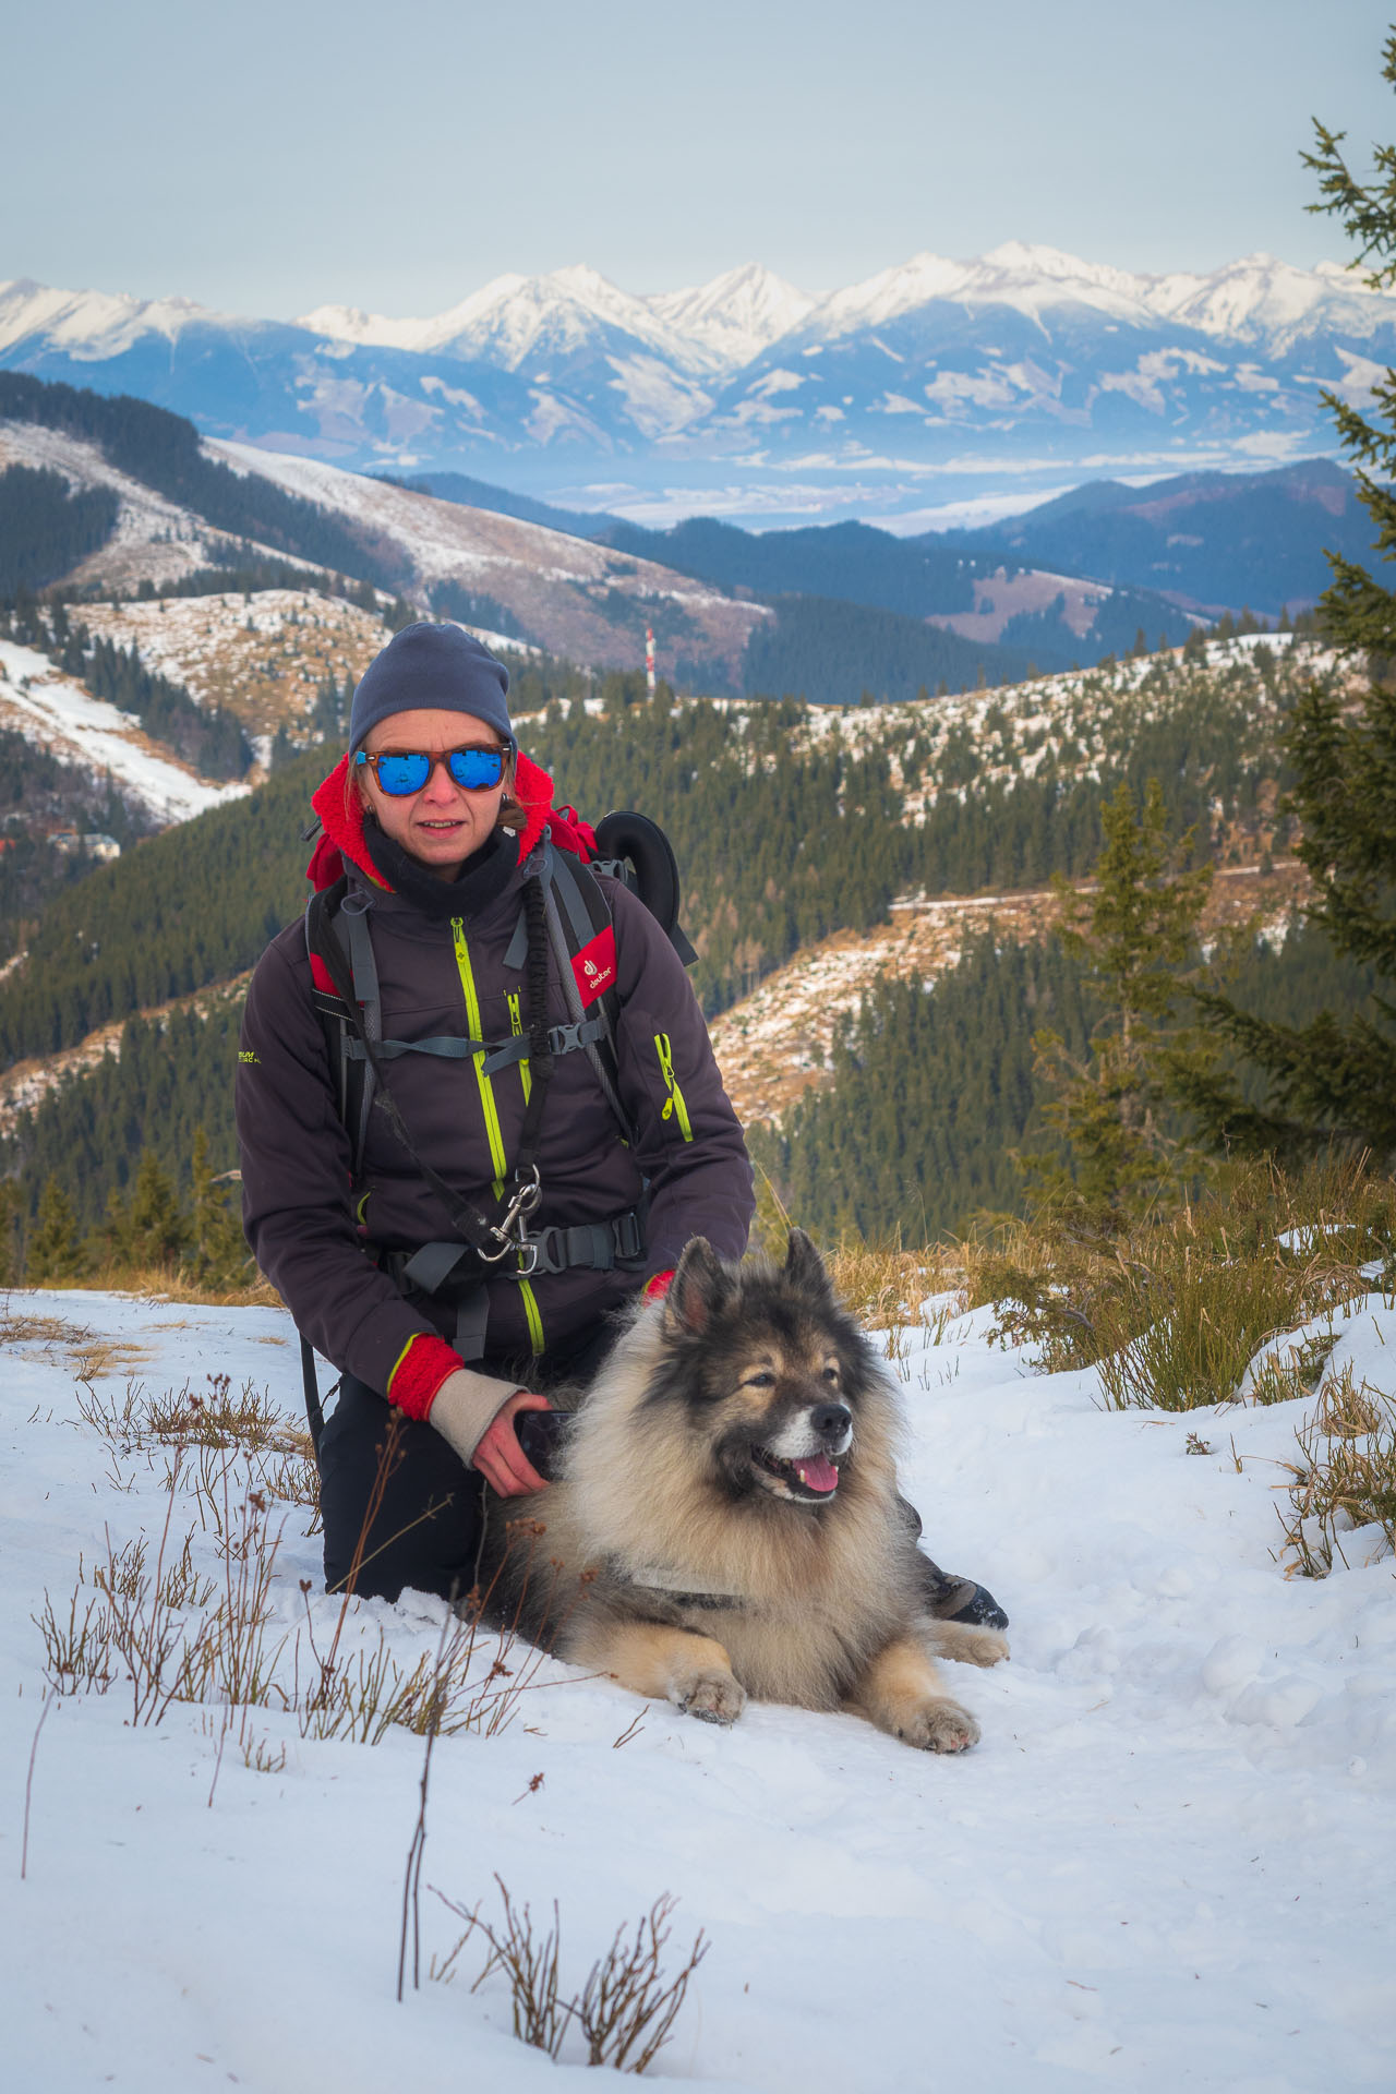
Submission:
[[[0,369],[134,392],[205,433],[387,471],[483,471],[657,521],[710,509],[929,521],[1333,450],[1321,389],[1396,362],[1396,297],[1249,255],[1145,276],[1007,243],[827,297],[756,264],[640,297],[586,266],[498,276],[431,318],[297,320],[0,283]]]

